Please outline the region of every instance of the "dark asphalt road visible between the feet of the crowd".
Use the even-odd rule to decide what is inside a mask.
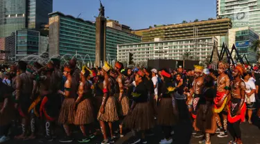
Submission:
[[[175,134],[173,134],[173,143],[174,144],[196,144],[198,143],[198,141],[200,141],[200,138],[193,138],[193,136],[191,136],[191,132],[192,132],[192,127],[191,127],[191,122],[189,120],[189,118],[187,117],[187,109],[185,109],[185,106],[182,105],[183,107],[181,107],[181,109],[183,109],[182,111],[180,111],[181,114],[181,118],[182,120],[180,120],[180,123],[178,125],[175,125],[175,127],[173,127]],[[257,117],[254,117],[254,119],[252,120],[254,125],[250,125],[248,123],[242,123],[241,124],[241,131],[242,131],[242,140],[244,144],[260,144],[260,119]],[[75,139],[79,139],[81,138],[82,134],[80,132],[80,129],[78,129],[77,127],[74,127],[73,129],[73,137]],[[15,129],[12,128],[12,136],[19,134],[19,132],[21,132],[21,128],[19,129]],[[162,139],[162,129],[157,126],[153,129],[154,132],[154,136],[147,136],[146,139],[148,140],[149,144],[157,144],[159,143],[159,141]],[[64,131],[62,129],[62,127],[58,127],[57,129],[57,134],[58,134],[58,138],[55,138],[55,140],[53,142],[49,142],[49,143],[59,143],[58,139],[62,138],[62,136],[64,136]],[[215,135],[211,136],[211,143],[212,144],[226,144],[228,141],[232,140],[231,136],[229,135],[226,138],[218,138]],[[12,138],[11,141],[8,141],[6,143],[10,143],[10,144],[38,144],[39,142],[39,138],[41,136],[38,136],[37,139],[35,140],[30,140],[30,141],[21,141],[21,140],[15,140]],[[132,132],[130,132],[129,130],[125,130],[125,136],[123,138],[118,138],[116,141],[116,144],[127,144],[129,143],[129,141],[131,140],[132,137]],[[101,135],[101,133],[99,132],[98,136],[96,136],[96,138],[93,139],[93,141],[89,142],[89,144],[96,144],[96,143],[101,143],[101,141],[103,141],[103,137]],[[77,141],[73,141],[74,143],[78,143]]]

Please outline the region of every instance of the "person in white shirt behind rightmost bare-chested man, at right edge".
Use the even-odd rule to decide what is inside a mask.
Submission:
[[[256,87],[255,87],[254,81],[250,80],[251,77],[252,77],[252,73],[250,71],[248,71],[244,75],[245,86],[246,86],[245,102],[246,102],[247,109],[248,109],[248,123],[250,123],[250,124],[252,124],[252,121],[251,121],[252,111],[255,109],[255,103],[256,103],[256,99],[254,96]]]

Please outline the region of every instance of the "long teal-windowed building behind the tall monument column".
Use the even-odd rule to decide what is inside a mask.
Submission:
[[[106,57],[116,60],[117,44],[141,42],[141,37],[125,30],[106,29]],[[96,57],[96,24],[61,12],[49,14],[49,55],[78,55],[78,59],[94,62]]]

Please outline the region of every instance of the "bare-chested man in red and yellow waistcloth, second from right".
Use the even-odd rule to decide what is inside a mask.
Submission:
[[[216,86],[216,97],[214,98],[214,112],[216,113],[216,123],[218,137],[227,137],[227,100],[229,99],[230,80],[225,74],[225,64],[218,62],[218,78]],[[220,121],[220,115],[223,118],[223,126]]]

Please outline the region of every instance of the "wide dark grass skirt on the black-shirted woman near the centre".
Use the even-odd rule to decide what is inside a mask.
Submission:
[[[135,105],[131,114],[123,119],[123,124],[129,129],[147,130],[155,126],[155,118],[150,102],[140,102]]]

